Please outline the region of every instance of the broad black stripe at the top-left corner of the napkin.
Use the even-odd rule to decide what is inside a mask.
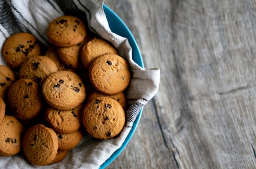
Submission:
[[[0,12],[0,24],[10,35],[18,32],[29,32],[27,27],[14,16],[11,6],[9,6],[7,1],[0,1]],[[4,34],[5,31],[0,30],[0,32],[3,33],[4,37],[8,38],[7,35]]]

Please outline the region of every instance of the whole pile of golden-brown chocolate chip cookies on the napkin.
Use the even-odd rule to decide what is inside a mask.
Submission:
[[[46,32],[46,50],[30,33],[9,37],[8,66],[0,65],[0,155],[24,153],[38,166],[60,162],[83,136],[119,135],[131,78],[115,47],[88,35],[80,18],[57,18]]]

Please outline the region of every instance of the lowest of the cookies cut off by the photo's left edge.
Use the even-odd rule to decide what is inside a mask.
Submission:
[[[13,116],[4,116],[0,124],[0,155],[14,156],[21,151],[23,126]]]

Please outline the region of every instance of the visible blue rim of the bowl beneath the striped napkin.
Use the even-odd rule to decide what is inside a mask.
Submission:
[[[130,30],[127,28],[127,26],[125,25],[125,23],[109,8],[107,7],[105,4],[103,5],[104,8],[104,12],[106,14],[107,17],[107,21],[109,22],[109,26],[110,29],[112,30],[112,32],[121,35],[122,37],[125,37],[129,40],[129,43],[131,45],[132,48],[132,59],[134,60],[134,62],[136,62],[138,65],[140,65],[142,68],[144,68],[144,64],[143,64],[143,60],[140,54],[140,50],[137,46],[137,43],[133,37],[133,35],[131,34]],[[134,132],[136,130],[137,125],[139,124],[140,121],[140,117],[142,114],[142,109],[139,112],[139,115],[137,116],[134,125],[131,128],[131,131],[129,132],[128,136],[126,137],[124,143],[122,144],[122,146],[116,150],[111,156],[110,158],[108,158],[100,167],[100,169],[107,167],[112,161],[115,160],[115,158],[117,156],[119,156],[119,154],[124,150],[124,148],[126,147],[126,145],[128,144],[128,142],[131,140],[132,135],[134,135]]]

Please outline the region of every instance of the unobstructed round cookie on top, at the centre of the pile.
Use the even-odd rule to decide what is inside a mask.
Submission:
[[[57,71],[47,76],[42,93],[46,102],[59,110],[75,109],[86,97],[85,85],[72,71]]]

